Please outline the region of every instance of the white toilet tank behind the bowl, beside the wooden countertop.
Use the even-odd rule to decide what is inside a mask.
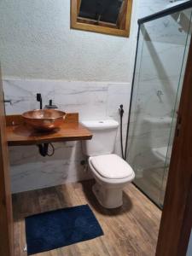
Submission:
[[[87,156],[112,154],[119,123],[115,120],[82,121],[93,134],[91,140],[82,141],[83,153]]]

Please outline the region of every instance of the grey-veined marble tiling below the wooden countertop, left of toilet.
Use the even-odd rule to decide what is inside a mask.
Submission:
[[[28,147],[20,147],[20,154],[16,154],[13,147],[10,150],[13,192],[90,178],[90,173],[84,172],[84,167],[80,165],[80,160],[84,159],[84,156],[81,154],[79,143],[55,143],[55,155],[46,158],[41,157],[38,148],[34,146],[30,147],[33,152],[31,155],[25,154],[26,149],[29,150]]]

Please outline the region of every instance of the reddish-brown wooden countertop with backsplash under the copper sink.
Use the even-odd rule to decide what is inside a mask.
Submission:
[[[35,131],[24,123],[21,115],[8,115],[6,122],[9,146],[80,141],[92,138],[90,131],[79,124],[78,113],[67,113],[63,125],[58,130],[49,132]]]

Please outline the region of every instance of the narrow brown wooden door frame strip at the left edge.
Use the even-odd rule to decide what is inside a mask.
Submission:
[[[13,251],[13,217],[9,177],[9,157],[0,67],[0,255],[12,256],[14,255]]]

